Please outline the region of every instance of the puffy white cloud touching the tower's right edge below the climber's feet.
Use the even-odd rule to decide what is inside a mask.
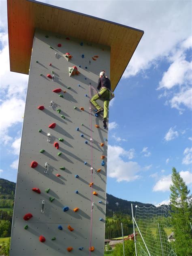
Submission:
[[[108,146],[107,175],[120,181],[134,181],[139,179],[141,167],[137,162],[125,161],[122,157],[129,158],[130,153],[119,146]]]

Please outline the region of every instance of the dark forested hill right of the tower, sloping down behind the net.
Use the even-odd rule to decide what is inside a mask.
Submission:
[[[106,216],[112,217],[113,212],[132,215],[131,204],[143,205],[146,207],[149,207],[152,205],[152,204],[146,204],[146,203],[141,203],[137,201],[127,201],[127,200],[123,200],[115,196],[112,196],[110,194],[107,194]],[[155,207],[155,205],[152,205],[152,206]]]

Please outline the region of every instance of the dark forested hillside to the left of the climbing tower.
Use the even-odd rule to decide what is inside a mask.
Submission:
[[[0,178],[0,198],[14,199],[16,183]]]

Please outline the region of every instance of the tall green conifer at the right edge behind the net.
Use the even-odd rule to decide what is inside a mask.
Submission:
[[[172,170],[172,182],[170,186],[171,195],[171,221],[175,236],[175,250],[177,256],[192,255],[192,237],[190,227],[190,215],[192,213],[188,203],[188,194],[190,190],[186,183],[176,171]]]

